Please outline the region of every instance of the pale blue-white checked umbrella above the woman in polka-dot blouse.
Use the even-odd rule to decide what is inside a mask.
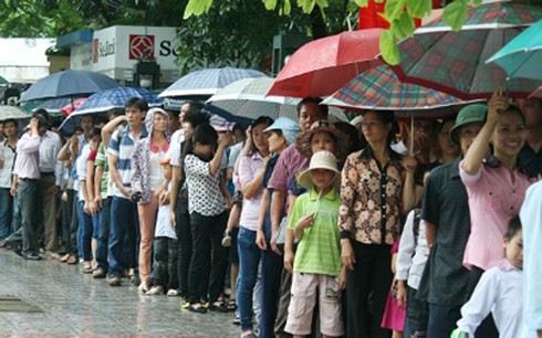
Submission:
[[[232,82],[265,74],[246,68],[208,68],[191,72],[167,87],[158,97],[206,97],[216,94]]]

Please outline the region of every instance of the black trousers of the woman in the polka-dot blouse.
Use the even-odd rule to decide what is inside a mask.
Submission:
[[[209,303],[215,303],[223,289],[228,255],[222,246],[226,230],[226,212],[205,216],[190,213],[192,256],[188,277],[188,302],[200,303],[206,296],[200,286],[208,287]]]

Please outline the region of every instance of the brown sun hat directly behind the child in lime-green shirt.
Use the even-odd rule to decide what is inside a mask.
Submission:
[[[344,159],[348,155],[348,150],[351,148],[350,137],[338,130],[335,126],[330,124],[325,119],[317,120],[312,124],[311,128],[305,133],[298,136],[295,140],[295,146],[298,151],[306,158],[311,158],[312,149],[311,149],[311,140],[312,137],[317,133],[330,133],[335,139],[335,154],[338,159]]]

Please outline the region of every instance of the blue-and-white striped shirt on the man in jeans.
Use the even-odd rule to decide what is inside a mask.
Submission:
[[[147,129],[143,126],[139,139],[148,136]],[[116,168],[124,187],[129,188],[134,170],[132,168],[132,154],[134,152],[135,139],[129,133],[129,126],[126,126],[122,131],[115,130],[111,137],[110,148],[107,154],[118,158]],[[113,187],[113,196],[126,199],[116,186]]]

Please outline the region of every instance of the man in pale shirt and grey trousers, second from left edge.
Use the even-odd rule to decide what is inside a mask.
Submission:
[[[25,260],[40,261],[38,210],[40,208],[40,144],[48,131],[48,122],[39,114],[30,119],[30,130],[17,144],[17,196],[22,223],[22,254]]]

